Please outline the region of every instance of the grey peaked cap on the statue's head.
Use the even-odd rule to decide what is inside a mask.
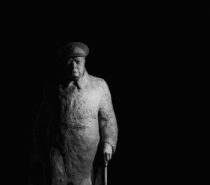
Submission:
[[[86,57],[89,48],[82,42],[70,42],[64,46],[63,52],[66,57]]]

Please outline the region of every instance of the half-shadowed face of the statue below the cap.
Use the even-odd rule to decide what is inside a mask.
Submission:
[[[71,57],[66,63],[66,72],[74,79],[79,79],[85,72],[85,58]]]

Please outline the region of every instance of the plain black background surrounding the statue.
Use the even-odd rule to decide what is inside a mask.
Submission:
[[[197,179],[191,173],[194,151],[189,150],[197,145],[199,131],[193,132],[196,124],[189,120],[197,118],[191,110],[196,103],[192,91],[201,74],[198,59],[208,61],[204,53],[209,10],[81,4],[18,4],[3,13],[3,177],[27,184],[32,125],[42,88],[57,77],[57,49],[81,41],[90,47],[88,72],[109,84],[118,120],[110,184]]]

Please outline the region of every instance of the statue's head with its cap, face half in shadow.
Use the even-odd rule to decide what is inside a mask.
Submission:
[[[79,79],[85,72],[85,59],[89,54],[89,48],[81,42],[70,42],[66,44],[60,54],[65,69],[65,75],[74,79]]]

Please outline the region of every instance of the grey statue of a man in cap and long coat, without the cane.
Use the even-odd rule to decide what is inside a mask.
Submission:
[[[64,79],[45,92],[35,137],[46,185],[99,185],[100,161],[110,160],[118,136],[107,83],[86,71],[87,45],[62,49]]]

